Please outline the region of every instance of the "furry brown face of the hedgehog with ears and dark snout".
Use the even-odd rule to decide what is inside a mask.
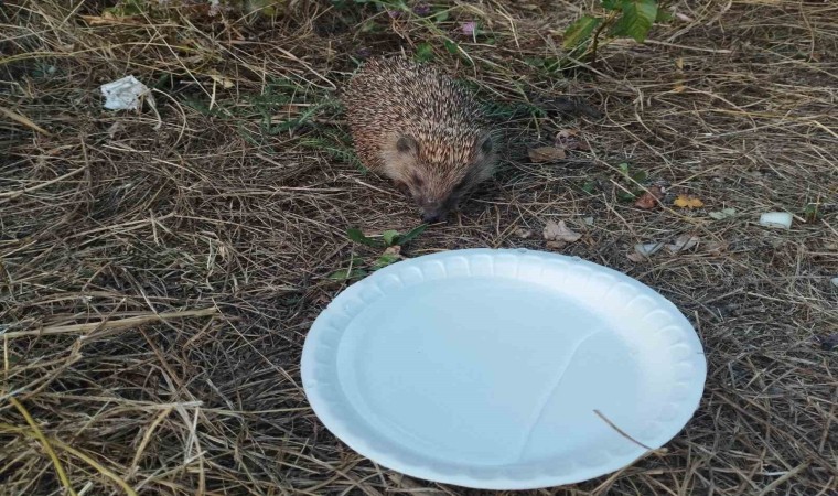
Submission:
[[[422,153],[409,136],[395,140],[386,153],[387,173],[409,194],[422,212],[422,220],[444,220],[460,200],[488,179],[496,161],[492,137],[486,133],[471,140],[461,153]]]

